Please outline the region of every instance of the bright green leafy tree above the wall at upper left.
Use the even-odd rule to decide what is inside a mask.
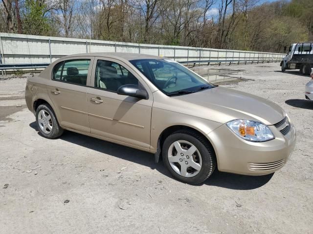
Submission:
[[[51,20],[46,15],[47,6],[41,0],[25,0],[22,12],[23,33],[49,35],[52,31]]]

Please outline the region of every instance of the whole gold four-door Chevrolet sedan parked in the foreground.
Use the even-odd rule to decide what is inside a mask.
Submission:
[[[273,173],[295,145],[294,126],[278,105],[156,56],[66,56],[28,78],[25,99],[43,137],[69,130],[147,151],[190,184],[216,168]]]

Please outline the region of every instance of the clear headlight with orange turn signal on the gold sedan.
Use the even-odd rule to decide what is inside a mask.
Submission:
[[[236,119],[228,122],[227,126],[237,136],[248,141],[262,142],[275,138],[268,126],[258,121]]]

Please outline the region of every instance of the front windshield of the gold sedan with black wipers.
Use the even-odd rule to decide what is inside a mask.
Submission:
[[[170,59],[136,59],[130,62],[168,96],[189,94],[216,87]]]

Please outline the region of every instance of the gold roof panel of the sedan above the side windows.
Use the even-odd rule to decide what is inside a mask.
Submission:
[[[164,59],[164,57],[158,57],[154,55],[145,55],[145,54],[135,54],[135,53],[115,53],[115,52],[99,52],[99,53],[85,53],[85,54],[75,54],[68,55],[64,58],[71,57],[84,57],[84,56],[94,56],[94,57],[108,57],[112,59],[126,59],[126,60],[134,60],[134,59]]]

